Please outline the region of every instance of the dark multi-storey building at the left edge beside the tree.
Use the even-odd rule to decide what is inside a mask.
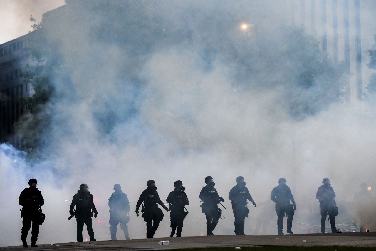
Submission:
[[[20,97],[30,96],[30,84],[22,77],[31,63],[29,35],[0,44],[0,143],[9,142],[21,149],[22,142],[16,135],[14,123],[27,112]]]

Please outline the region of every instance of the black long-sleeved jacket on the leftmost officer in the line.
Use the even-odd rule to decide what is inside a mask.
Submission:
[[[44,204],[42,192],[38,188],[25,188],[18,198],[24,213],[38,213],[39,207]]]

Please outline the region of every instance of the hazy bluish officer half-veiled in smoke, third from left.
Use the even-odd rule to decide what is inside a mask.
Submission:
[[[129,200],[127,194],[121,191],[120,184],[114,185],[115,193],[111,194],[108,199],[108,206],[110,207],[110,231],[111,240],[116,240],[117,225],[120,223],[120,228],[124,232],[125,239],[129,240],[128,226],[129,222]]]

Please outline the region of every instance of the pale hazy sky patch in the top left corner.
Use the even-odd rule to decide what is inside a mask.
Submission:
[[[44,12],[62,5],[64,0],[0,0],[0,44],[27,34],[30,15],[40,21]]]

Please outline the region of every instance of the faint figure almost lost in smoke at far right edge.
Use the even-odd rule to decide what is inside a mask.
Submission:
[[[360,184],[360,191],[354,195],[354,204],[356,214],[360,219],[360,231],[365,232],[371,224],[371,216],[374,210],[374,200],[371,191],[368,190],[368,185],[364,182]]]

